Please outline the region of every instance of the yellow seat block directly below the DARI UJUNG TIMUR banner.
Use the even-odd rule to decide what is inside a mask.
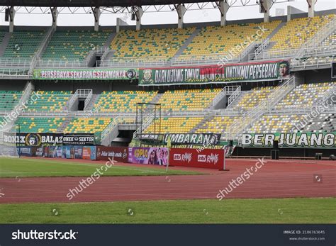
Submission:
[[[218,95],[220,89],[170,90],[159,99],[162,110],[193,111],[206,109]]]

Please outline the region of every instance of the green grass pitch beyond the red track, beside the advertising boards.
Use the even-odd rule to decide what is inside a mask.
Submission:
[[[89,177],[104,163],[55,161],[28,158],[0,158],[0,178],[4,177]],[[201,174],[169,169],[150,168],[147,165],[127,167],[113,165],[103,172],[103,176],[154,176],[154,175]]]

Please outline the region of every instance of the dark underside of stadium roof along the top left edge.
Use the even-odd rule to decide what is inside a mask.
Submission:
[[[203,3],[192,0],[0,0],[0,6],[32,6],[32,7],[127,7],[127,6],[145,6],[145,5],[166,5],[166,4],[191,4]],[[215,2],[215,1],[213,1]]]

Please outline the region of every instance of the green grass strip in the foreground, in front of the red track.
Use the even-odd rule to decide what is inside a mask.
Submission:
[[[336,223],[335,198],[21,203],[0,223]]]

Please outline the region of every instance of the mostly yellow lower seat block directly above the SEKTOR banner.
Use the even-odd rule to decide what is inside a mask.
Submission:
[[[74,118],[65,129],[65,133],[101,132],[112,121],[112,118]]]

